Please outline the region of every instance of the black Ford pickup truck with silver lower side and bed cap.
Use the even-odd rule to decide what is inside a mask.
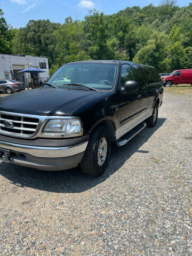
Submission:
[[[111,143],[123,146],[157,123],[162,81],[154,67],[127,61],[63,65],[39,89],[0,100],[0,159],[39,170],[77,165],[97,177]]]

